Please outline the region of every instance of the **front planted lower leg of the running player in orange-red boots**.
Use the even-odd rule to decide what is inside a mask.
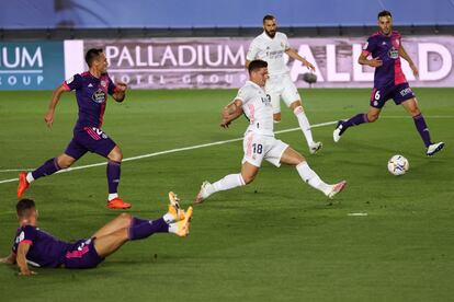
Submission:
[[[123,160],[123,153],[118,146],[109,153],[107,155],[107,187],[109,187],[109,196],[107,196],[107,208],[110,209],[129,209],[130,204],[125,202],[118,196],[118,185],[120,185],[120,176],[121,176],[121,165]]]

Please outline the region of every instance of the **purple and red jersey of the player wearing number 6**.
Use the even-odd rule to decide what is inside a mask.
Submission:
[[[400,34],[393,31],[389,36],[377,32],[367,38],[363,47],[363,54],[372,54],[373,58],[379,58],[383,61],[381,67],[375,68],[374,86],[381,89],[406,83],[400,66]]]

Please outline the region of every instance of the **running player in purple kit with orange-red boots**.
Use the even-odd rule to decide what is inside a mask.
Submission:
[[[71,166],[88,151],[100,154],[107,162],[107,207],[111,209],[128,209],[130,205],[118,197],[120,167],[123,153],[120,147],[101,130],[107,94],[116,102],[123,102],[126,84],[112,82],[107,74],[107,59],[102,49],[89,49],[86,55],[89,71],[75,74],[63,82],[53,94],[49,108],[44,117],[48,127],[54,123],[55,108],[64,92],[76,91],[79,106],[79,119],[73,128],[73,138],[63,154],[46,161],[33,172],[19,174],[18,199],[21,199],[29,185],[41,177],[52,175],[61,169]]]

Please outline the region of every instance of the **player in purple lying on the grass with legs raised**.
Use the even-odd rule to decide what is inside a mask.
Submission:
[[[0,263],[18,264],[20,275],[33,275],[29,264],[36,267],[93,268],[128,241],[146,239],[155,233],[186,236],[192,207],[180,209],[179,200],[169,193],[169,211],[160,219],[145,220],[122,213],[90,239],[68,243],[37,228],[38,212],[31,199],[16,205],[19,225],[11,254]]]

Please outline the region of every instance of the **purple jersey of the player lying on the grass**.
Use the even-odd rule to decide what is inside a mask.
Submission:
[[[25,225],[18,229],[12,252],[18,254],[22,243],[31,245],[26,259],[41,267],[58,267],[65,262],[65,254],[71,244],[59,241],[36,226]]]

